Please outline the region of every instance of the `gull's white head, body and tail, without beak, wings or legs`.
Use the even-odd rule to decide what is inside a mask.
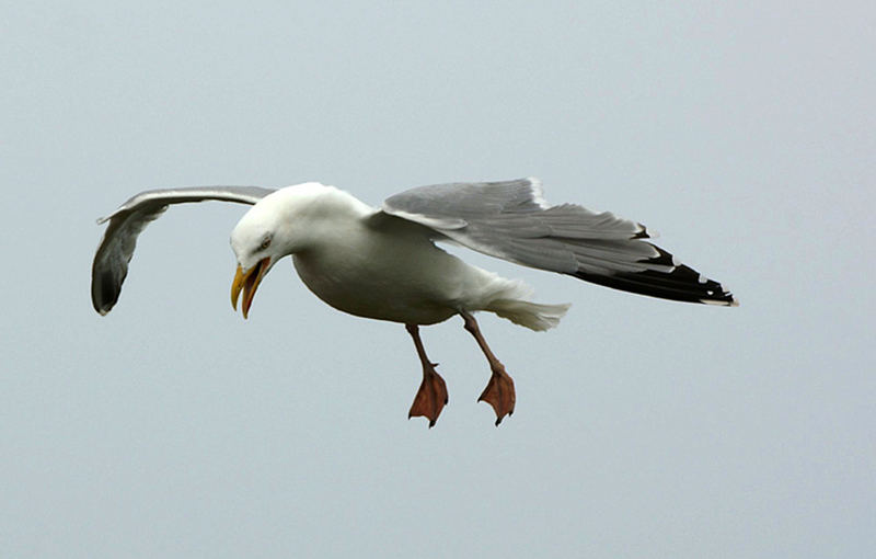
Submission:
[[[441,250],[410,220],[376,227],[372,207],[331,186],[300,184],[258,202],[231,232],[243,271],[287,254],[304,285],[332,307],[366,318],[434,324],[464,309],[491,311],[533,330],[555,326],[567,305],[535,305],[522,282]],[[252,252],[269,236],[264,250]]]

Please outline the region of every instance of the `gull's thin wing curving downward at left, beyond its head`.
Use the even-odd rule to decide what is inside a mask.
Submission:
[[[97,220],[110,221],[91,266],[91,303],[94,310],[106,315],[118,300],[122,284],[128,275],[128,262],[137,246],[137,236],[171,204],[218,199],[255,204],[274,192],[258,186],[195,186],[141,192],[118,209]]]

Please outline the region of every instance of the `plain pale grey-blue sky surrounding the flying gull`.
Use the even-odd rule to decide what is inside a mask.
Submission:
[[[0,21],[2,557],[864,557],[876,548],[872,2],[19,2]],[[784,5],[786,4],[786,5]],[[244,206],[173,208],[99,317],[94,219],[146,189],[319,180],[366,202],[540,176],[741,300],[476,254],[557,330],[347,317]]]

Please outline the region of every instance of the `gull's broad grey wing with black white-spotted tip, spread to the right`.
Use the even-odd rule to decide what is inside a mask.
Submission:
[[[420,186],[388,198],[382,213],[526,266],[664,299],[737,304],[719,283],[647,242],[643,225],[575,204],[549,206],[538,179]]]

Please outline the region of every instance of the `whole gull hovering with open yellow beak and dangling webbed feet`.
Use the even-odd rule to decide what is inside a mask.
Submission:
[[[476,312],[534,331],[557,326],[568,304],[531,299],[532,289],[465,263],[439,244],[453,243],[523,266],[662,299],[737,306],[721,283],[649,241],[645,226],[577,204],[549,205],[535,178],[457,182],[406,190],[372,207],[319,182],[281,189],[194,186],[136,194],[111,215],[92,264],[94,309],[115,306],[137,238],[169,206],[221,201],[252,207],[231,231],[237,270],[231,305],[247,318],[256,289],[285,256],[303,284],[337,310],[404,324],[423,378],[408,419],[434,426],[448,403],[447,384],[426,354],[419,328],[460,317],[491,369],[479,401],[495,424],[514,413],[514,379],[491,350]]]

